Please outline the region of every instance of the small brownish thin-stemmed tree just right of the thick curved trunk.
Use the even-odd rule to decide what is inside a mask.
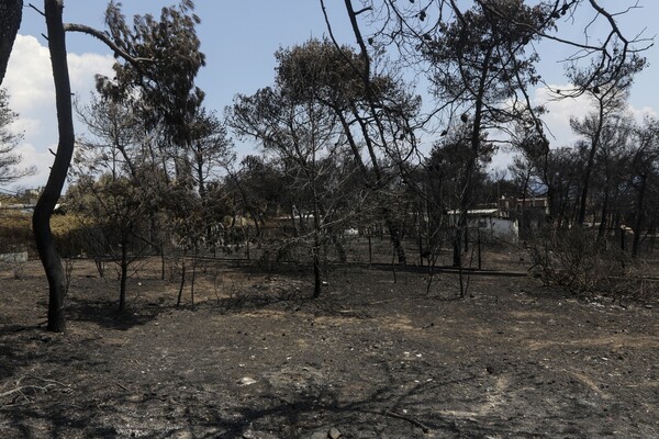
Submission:
[[[150,245],[149,217],[165,198],[160,173],[154,171],[144,148],[144,127],[133,102],[115,102],[94,95],[76,109],[90,139],[81,139],[75,157],[75,191],[67,198],[74,211],[94,228],[105,255],[120,273],[119,311],[125,311],[129,268]],[[89,219],[89,221],[88,221]],[[132,251],[131,248],[137,248]]]

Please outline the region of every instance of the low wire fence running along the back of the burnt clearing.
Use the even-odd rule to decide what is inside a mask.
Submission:
[[[7,232],[7,230],[5,230]],[[560,232],[560,230],[558,230]],[[597,238],[596,229],[585,229]],[[503,269],[511,264],[520,267],[527,260],[525,246],[528,240],[517,241],[514,236],[496,235],[487,227],[468,227],[462,235],[462,264],[471,268]],[[541,233],[541,232],[539,232]],[[622,248],[632,252],[633,233],[628,229],[612,228],[604,234],[604,244],[608,248]],[[454,262],[455,227],[444,227],[431,236],[426,230],[411,228],[402,238],[402,247],[407,264],[427,267],[451,266]],[[30,258],[35,258],[32,238],[5,233],[0,238],[0,254],[13,254],[29,250]],[[639,238],[639,256],[644,259],[659,259],[656,251],[658,235],[655,230],[643,230]],[[528,238],[534,239],[534,237]],[[160,246],[145,245],[144,240],[129,244],[132,255],[141,256],[198,256],[212,259],[224,259],[235,263],[260,263],[272,267],[280,263],[308,264],[312,259],[313,235],[301,234],[294,227],[226,227],[222,230],[216,245],[201,245],[197,250],[185,251],[172,241]],[[108,251],[94,241],[94,234],[72,230],[57,237],[57,247],[64,257],[89,256],[111,260],[110,254],[119,254],[119,249]],[[361,229],[349,228],[334,236],[322,239],[321,259],[324,263],[393,263],[398,262],[395,249],[381,225]]]

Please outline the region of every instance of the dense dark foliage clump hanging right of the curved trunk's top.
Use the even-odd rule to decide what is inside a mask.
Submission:
[[[204,95],[194,86],[205,56],[200,52],[196,31],[200,19],[193,10],[193,2],[183,0],[178,7],[163,8],[159,20],[136,15],[132,26],[121,13],[121,3],[111,1],[105,12],[109,36],[132,60],[114,65],[113,80],[97,78],[97,88],[114,100],[132,98],[137,90],[147,127],[163,123],[175,143],[191,140],[191,117]]]

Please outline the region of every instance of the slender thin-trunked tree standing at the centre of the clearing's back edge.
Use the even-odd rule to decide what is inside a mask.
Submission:
[[[306,49],[313,49],[314,44]],[[284,77],[291,74],[287,69],[291,66],[286,64],[290,63],[291,52],[277,54],[280,67],[276,87],[259,90],[253,97],[238,95],[230,121],[239,135],[258,138],[266,151],[279,158],[289,191],[299,195],[295,204],[301,226],[306,226],[308,215],[313,219],[311,252],[317,297],[322,285],[321,247],[333,229],[340,227],[336,207],[348,180],[333,177],[339,176],[334,164],[345,134],[337,115],[319,99],[322,87],[326,86],[326,66],[321,58],[309,56],[305,75],[295,77],[302,86],[291,87],[293,78]]]

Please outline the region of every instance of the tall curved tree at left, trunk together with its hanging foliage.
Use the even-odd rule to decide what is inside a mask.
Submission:
[[[153,106],[150,114],[164,116],[175,126],[180,122],[176,119],[179,116],[178,112],[188,108],[191,94],[198,94],[191,93],[191,90],[197,71],[204,63],[194,32],[199,18],[191,14],[191,0],[183,0],[178,8],[164,8],[160,21],[152,15],[137,16],[133,30],[125,25],[119,5],[110,2],[105,19],[110,32],[100,32],[80,24],[65,25],[63,10],[64,0],[44,0],[59,140],[48,180],[32,221],[36,247],[48,279],[48,329],[54,331],[65,329],[65,279],[49,223],[62,194],[75,143],[65,32],[92,35],[112,48],[130,66],[115,65],[118,81],[114,85],[134,85],[137,91],[144,93],[145,102]],[[129,92],[126,88],[110,87],[108,81],[101,82],[107,86],[107,92],[115,95]]]

